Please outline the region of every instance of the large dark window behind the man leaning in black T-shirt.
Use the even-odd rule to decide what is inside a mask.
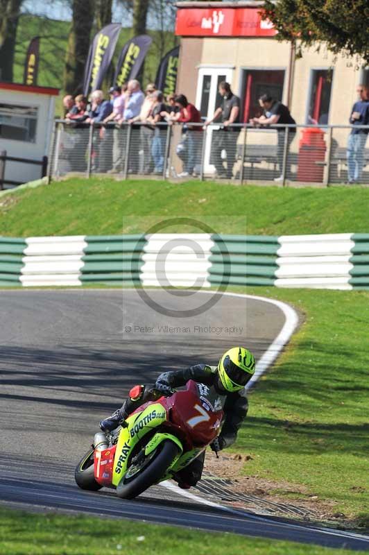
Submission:
[[[242,121],[248,123],[252,117],[259,117],[262,110],[259,98],[269,94],[282,101],[284,86],[283,69],[243,69],[241,81]]]

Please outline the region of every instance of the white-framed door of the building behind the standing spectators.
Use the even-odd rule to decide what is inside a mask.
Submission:
[[[196,108],[200,110],[201,116],[206,119],[211,119],[216,108],[221,105],[222,97],[218,93],[218,85],[221,81],[232,83],[232,69],[225,67],[201,67],[198,70]],[[206,130],[204,173],[215,172],[215,167],[209,162],[213,129],[216,128],[211,126]]]

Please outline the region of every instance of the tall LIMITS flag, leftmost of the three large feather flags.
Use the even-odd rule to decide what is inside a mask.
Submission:
[[[112,61],[120,30],[120,23],[111,23],[103,27],[94,36],[92,45],[89,47],[83,80],[83,94],[85,96],[90,90],[95,91],[101,88],[103,78]]]

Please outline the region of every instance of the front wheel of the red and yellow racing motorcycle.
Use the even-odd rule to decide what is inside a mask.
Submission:
[[[118,497],[133,499],[153,484],[156,484],[164,476],[166,469],[171,466],[179,451],[178,445],[175,445],[173,441],[163,441],[141,472],[128,479],[126,477],[121,479],[117,486]]]

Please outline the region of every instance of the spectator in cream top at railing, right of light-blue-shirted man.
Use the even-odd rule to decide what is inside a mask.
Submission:
[[[154,83],[148,83],[146,87],[146,96],[144,102],[141,105],[141,110],[138,116],[129,120],[129,123],[138,123],[140,122],[141,125],[139,126],[139,146],[137,151],[140,150],[142,153],[142,164],[141,164],[141,171],[142,173],[151,173],[153,171],[153,159],[151,157],[151,147],[153,144],[154,138],[154,128],[153,126],[148,126],[148,117],[151,116],[153,112],[153,105],[154,105],[154,97],[153,93],[155,92],[156,87]],[[140,172],[141,173],[141,172]]]

